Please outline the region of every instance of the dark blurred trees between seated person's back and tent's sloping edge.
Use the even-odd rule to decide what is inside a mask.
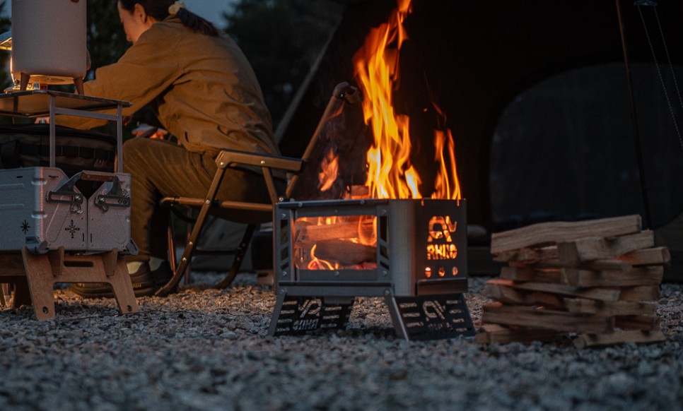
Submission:
[[[223,13],[259,79],[274,125],[342,17],[328,0],[241,0]]]

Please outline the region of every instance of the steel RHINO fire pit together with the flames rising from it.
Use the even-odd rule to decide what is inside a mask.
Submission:
[[[315,193],[288,190],[288,197],[305,201],[276,205],[278,299],[271,335],[346,326],[354,298],[361,296],[384,297],[396,333],[407,340],[474,335],[462,299],[467,215],[453,136],[434,103],[438,119],[428,157],[438,171],[429,186],[414,164],[417,157],[429,160],[419,148],[414,152],[409,117],[394,109],[399,49],[407,38],[402,22],[410,10],[410,0],[399,0],[387,23],[373,29],[354,56],[361,89],[335,90],[313,148],[304,154],[306,184],[298,184]],[[373,134],[367,147],[357,133],[344,136],[342,130],[349,133],[353,126],[341,126],[354,118],[360,95],[366,131]],[[358,148],[367,148],[362,161]],[[363,185],[354,174],[358,165]]]

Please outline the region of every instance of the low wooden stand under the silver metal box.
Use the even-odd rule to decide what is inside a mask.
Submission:
[[[123,256],[113,249],[100,254],[65,254],[64,248],[47,254],[0,254],[0,282],[15,285],[13,306],[33,304],[35,318],[54,318],[54,284],[57,282],[107,282],[112,286],[122,314],[138,311],[133,286]]]

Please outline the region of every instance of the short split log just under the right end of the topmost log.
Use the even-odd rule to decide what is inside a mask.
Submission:
[[[562,263],[581,263],[583,261],[617,258],[638,249],[647,249],[655,245],[652,231],[646,230],[636,234],[624,235],[614,239],[590,237],[568,242],[559,242],[557,250]]]

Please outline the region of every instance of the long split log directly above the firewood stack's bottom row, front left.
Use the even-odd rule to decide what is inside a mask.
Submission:
[[[484,305],[483,323],[556,330],[566,333],[609,333],[614,317],[583,316],[566,311],[493,303]]]

